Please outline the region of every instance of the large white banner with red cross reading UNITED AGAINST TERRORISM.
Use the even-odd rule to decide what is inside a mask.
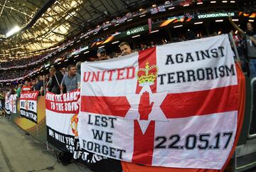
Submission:
[[[134,164],[220,169],[238,79],[228,35],[82,63],[80,146]]]

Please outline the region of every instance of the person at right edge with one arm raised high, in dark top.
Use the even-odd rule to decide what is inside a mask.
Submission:
[[[246,33],[238,27],[233,21],[232,18],[229,17],[230,23],[238,30],[238,32],[242,35],[246,40],[247,44],[247,56],[250,57],[250,77],[256,77],[256,34],[253,31],[253,27],[251,23],[247,23],[247,31]],[[253,35],[254,34],[254,35]]]

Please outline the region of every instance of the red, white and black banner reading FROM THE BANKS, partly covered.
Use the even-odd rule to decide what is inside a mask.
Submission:
[[[48,143],[73,154],[74,159],[85,164],[94,164],[102,156],[80,150],[78,141],[78,100],[80,91],[57,95],[46,93],[46,128]],[[105,158],[106,159],[106,158]]]

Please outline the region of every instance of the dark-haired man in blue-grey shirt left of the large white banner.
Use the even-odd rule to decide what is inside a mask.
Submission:
[[[63,77],[60,84],[60,90],[62,92],[64,87],[67,89],[67,92],[80,88],[80,74],[76,73],[74,64],[68,65],[68,74]]]

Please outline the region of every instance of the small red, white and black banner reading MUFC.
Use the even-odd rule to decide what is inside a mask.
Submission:
[[[31,91],[21,93],[20,111],[21,117],[26,117],[28,120],[38,123],[37,117],[37,97],[39,91]]]

